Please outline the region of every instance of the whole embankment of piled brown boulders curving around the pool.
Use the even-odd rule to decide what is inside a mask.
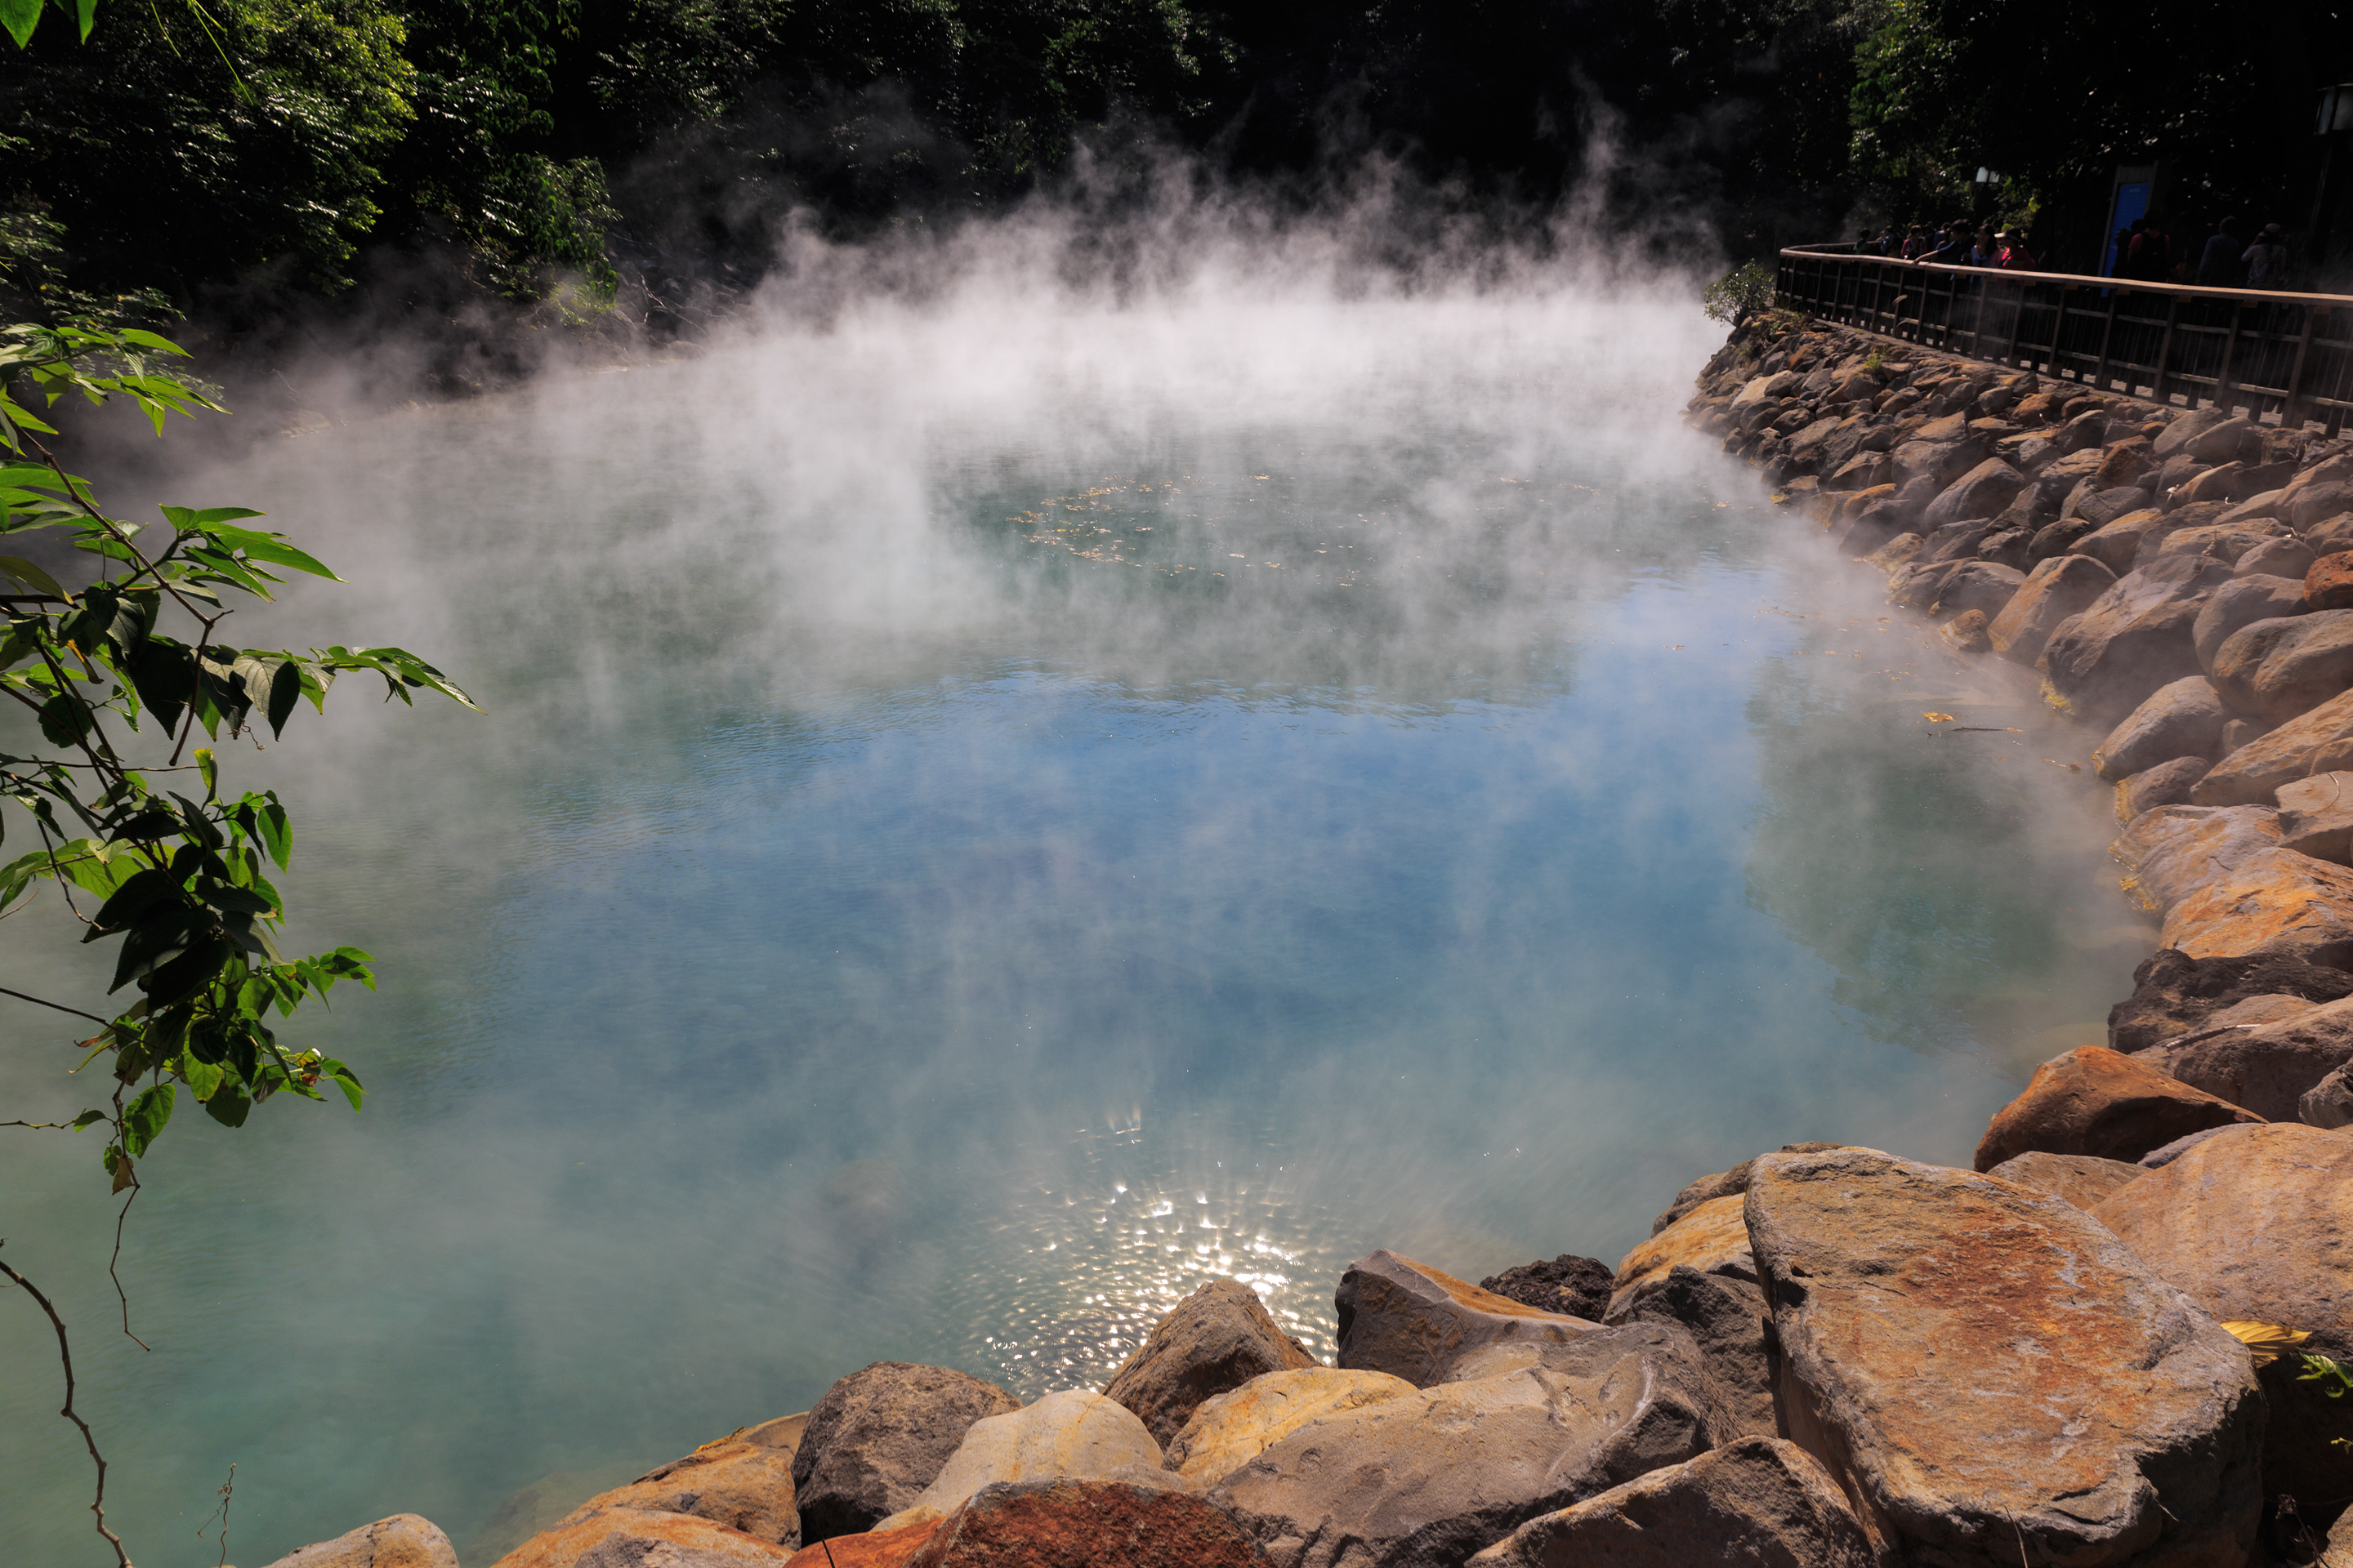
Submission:
[[[1692,418],[2087,722],[2165,919],[2108,1046],[1972,1171],[1788,1145],[1617,1269],[1372,1253],[1337,1366],[1231,1281],[1101,1392],[882,1361],[496,1568],[2353,1568],[2353,1396],[2226,1328],[2353,1356],[2353,442],[1788,322]]]

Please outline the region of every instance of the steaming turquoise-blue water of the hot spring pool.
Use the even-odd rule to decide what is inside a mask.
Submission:
[[[1329,1352],[1372,1246],[1614,1260],[1798,1138],[1967,1164],[2151,933],[2087,738],[1680,428],[1711,343],[965,299],[191,477],[353,578],[247,642],[494,717],[238,755],[296,936],[381,959],[301,1025],[369,1103],[172,1126],[153,1352],[96,1145],[0,1145],[136,1561],[216,1561],[233,1462],[231,1561],[412,1509],[478,1568],[873,1359],[1099,1385],[1209,1274]],[[38,919],[0,983],[87,978]],[[78,1110],[0,1018],[7,1105]],[[101,1563],[45,1335],[0,1295],[0,1537]]]

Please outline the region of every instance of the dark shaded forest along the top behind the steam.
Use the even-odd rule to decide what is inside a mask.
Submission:
[[[0,61],[12,303],[247,357],[424,324],[442,390],[529,357],[518,324],[692,334],[793,226],[1040,190],[1311,212],[1381,169],[1400,256],[1471,233],[1706,270],[1967,214],[2089,268],[2115,165],[2162,158],[2177,214],[2299,228],[2315,92],[2353,75],[2313,0],[205,5],[111,0],[87,42],[52,9]]]

